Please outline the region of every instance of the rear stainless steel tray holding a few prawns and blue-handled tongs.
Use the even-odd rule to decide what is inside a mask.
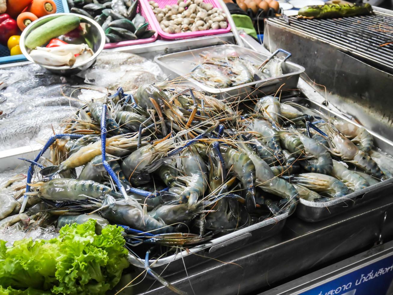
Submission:
[[[179,82],[191,82],[193,85],[195,85],[195,87],[205,92],[215,94],[221,99],[239,97],[245,98],[250,95],[254,97],[266,95],[275,92],[283,84],[285,84],[283,89],[294,89],[298,84],[300,74],[304,72],[303,66],[285,61],[282,64],[283,75],[280,77],[253,81],[251,83],[239,85],[236,87],[222,89],[208,87],[190,76],[191,70],[195,67],[196,64],[202,61],[202,57],[199,56],[199,53],[206,51],[214,52],[215,50],[224,49],[235,50],[239,56],[249,59],[254,63],[263,63],[263,61],[268,57],[266,54],[238,45],[223,44],[156,56],[154,61],[161,66],[165,74],[171,75],[171,79],[183,77],[179,80]]]

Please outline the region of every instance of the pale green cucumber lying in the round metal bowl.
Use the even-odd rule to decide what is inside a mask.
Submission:
[[[75,15],[62,15],[32,31],[25,41],[26,47],[34,49],[60,35],[64,35],[79,26],[79,17]]]

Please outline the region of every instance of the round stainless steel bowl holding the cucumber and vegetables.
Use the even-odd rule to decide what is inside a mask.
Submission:
[[[73,66],[48,66],[48,65],[41,65],[39,63],[37,64],[42,66],[43,68],[50,70],[53,73],[72,75],[80,71],[86,70],[88,67],[90,67],[95,63],[97,56],[101,53],[101,51],[104,48],[105,33],[101,28],[101,26],[97,24],[97,22],[95,22],[93,19],[75,13],[55,13],[55,14],[47,15],[45,17],[41,17],[35,20],[23,30],[22,35],[20,35],[19,45],[20,45],[20,50],[22,50],[22,53],[24,54],[24,56],[26,56],[26,58],[29,61],[35,63],[29,55],[28,48],[26,48],[25,46],[26,37],[29,35],[29,33],[31,33],[31,31],[33,31],[35,28],[48,22],[49,20],[55,19],[57,17],[61,17],[62,15],[70,15],[70,14],[79,17],[81,23],[86,23],[87,33],[85,35],[86,38],[85,43],[87,43],[89,46],[91,45],[90,48],[92,48],[94,52],[93,56],[87,59],[86,61],[84,61],[83,63],[79,63]]]

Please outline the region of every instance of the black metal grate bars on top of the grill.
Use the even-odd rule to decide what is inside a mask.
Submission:
[[[329,42],[340,50],[360,57],[366,63],[393,71],[393,44],[379,44],[393,39],[393,16],[374,11],[374,15],[333,19],[298,19],[289,17],[268,21]]]

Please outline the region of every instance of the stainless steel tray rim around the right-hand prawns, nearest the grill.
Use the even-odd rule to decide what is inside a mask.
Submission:
[[[332,111],[325,105],[317,103],[316,101],[312,101],[307,98],[296,98],[296,99],[289,99],[289,100],[296,101],[301,105],[307,105],[311,110],[312,109],[318,110],[329,116],[337,116],[342,118],[343,120],[351,122],[352,124],[358,125],[359,127],[361,126],[349,120],[347,117],[343,116],[343,114],[336,111]],[[366,127],[364,128],[367,129]],[[380,148],[382,151],[388,153],[389,155],[393,154],[393,142],[376,134],[373,131],[370,131],[369,129],[367,129],[367,131],[369,131],[373,135],[375,147]],[[344,197],[332,199],[331,201],[327,201],[323,203],[316,203],[316,202],[300,199],[298,205],[296,206],[296,215],[304,221],[309,221],[309,222],[321,221],[323,219],[327,219],[331,216],[349,210],[354,206],[367,203],[377,197],[382,197],[392,194],[391,193],[392,188],[393,188],[393,179],[387,179],[380,183],[364,188],[363,190],[359,190],[351,194],[345,195]]]

